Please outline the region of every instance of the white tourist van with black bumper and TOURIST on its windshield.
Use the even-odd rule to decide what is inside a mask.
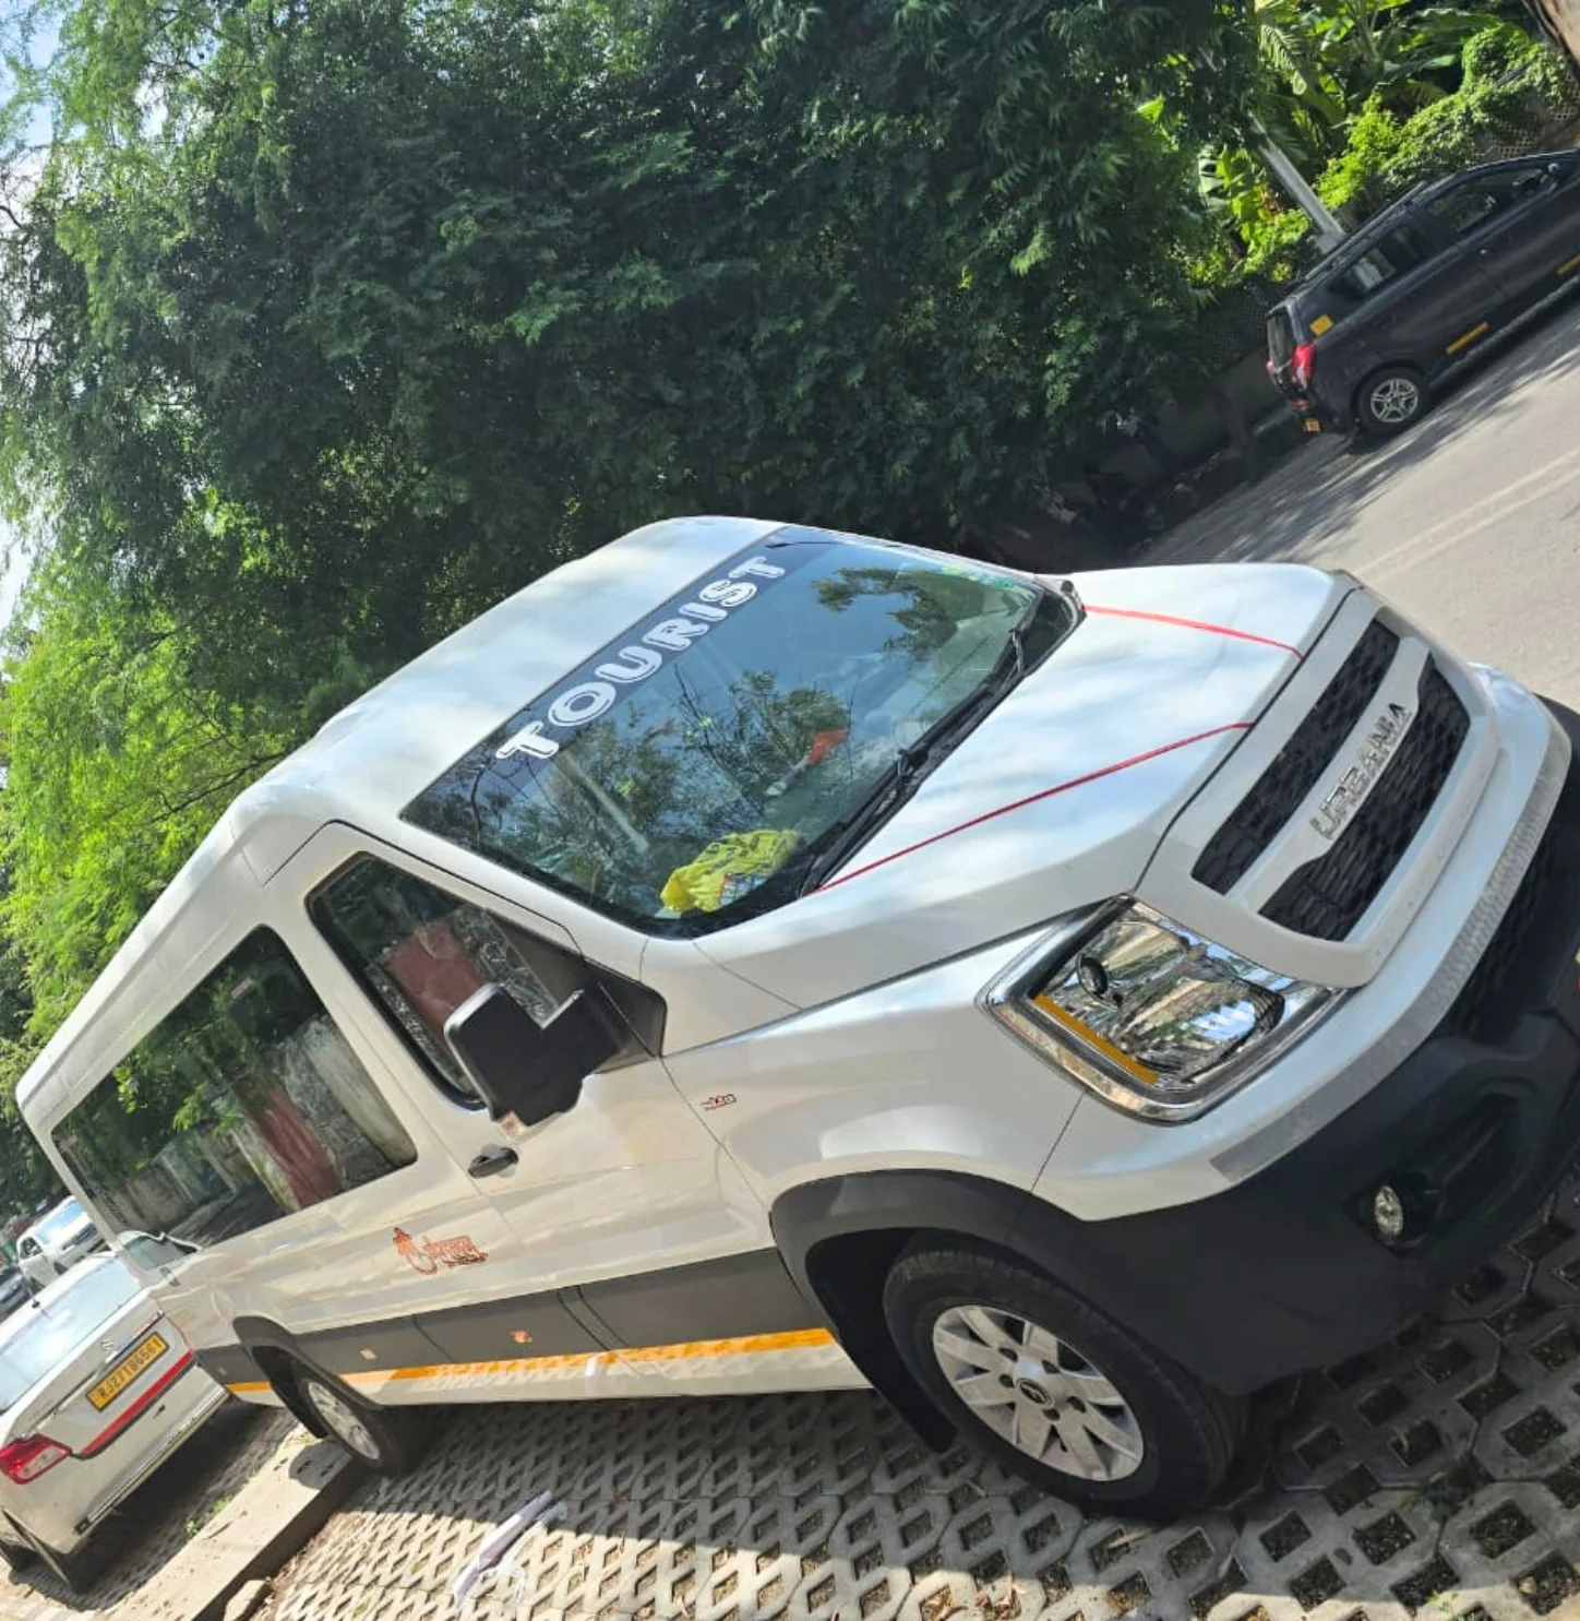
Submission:
[[[21,1107],[374,1467],[439,1402],[870,1383],[1201,1501],[1570,1157],[1577,725],[1316,569],[658,524],[245,793]]]

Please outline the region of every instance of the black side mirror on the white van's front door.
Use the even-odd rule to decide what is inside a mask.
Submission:
[[[444,1039],[494,1120],[538,1125],[582,1096],[582,1081],[626,1042],[601,986],[577,990],[540,1024],[501,986],[475,990],[444,1021]]]

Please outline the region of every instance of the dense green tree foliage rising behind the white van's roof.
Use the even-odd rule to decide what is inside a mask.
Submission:
[[[1251,62],[1222,0],[3,26],[0,499],[41,558],[6,1094],[233,791],[557,561],[681,511],[948,545],[1040,504],[1189,339],[1142,107],[1204,138]]]

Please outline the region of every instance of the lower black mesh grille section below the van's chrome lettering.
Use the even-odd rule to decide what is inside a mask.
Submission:
[[[1421,832],[1468,731],[1465,705],[1428,663],[1399,752],[1332,848],[1292,872],[1262,916],[1317,940],[1347,939]]]

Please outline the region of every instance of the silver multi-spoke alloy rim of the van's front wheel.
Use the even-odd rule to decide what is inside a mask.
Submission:
[[[997,1307],[950,1307],[933,1355],[954,1394],[1016,1451],[1076,1480],[1125,1480],[1146,1446],[1129,1402],[1087,1357]]]

